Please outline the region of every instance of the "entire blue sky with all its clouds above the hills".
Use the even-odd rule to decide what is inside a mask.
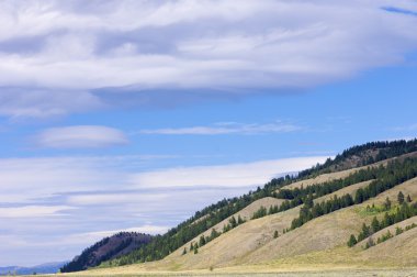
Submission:
[[[417,132],[417,1],[0,1],[0,266],[69,261]]]

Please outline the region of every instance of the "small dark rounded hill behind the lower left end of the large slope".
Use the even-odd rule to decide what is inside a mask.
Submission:
[[[64,265],[60,272],[78,272],[98,266],[102,262],[126,255],[139,246],[148,244],[151,240],[153,236],[149,234],[136,232],[117,233],[86,248],[81,255],[76,256],[71,262]]]

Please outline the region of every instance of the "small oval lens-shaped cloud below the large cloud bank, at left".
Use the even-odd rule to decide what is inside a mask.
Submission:
[[[50,148],[105,147],[127,142],[122,131],[98,125],[53,128],[35,137],[38,146]]]

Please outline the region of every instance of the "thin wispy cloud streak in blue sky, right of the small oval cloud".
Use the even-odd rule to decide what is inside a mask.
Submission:
[[[266,133],[289,133],[302,130],[301,126],[274,122],[267,124],[243,124],[235,122],[216,123],[208,126],[190,128],[166,128],[155,130],[140,130],[140,134],[162,134],[162,135],[222,135],[222,134],[266,134]]]

